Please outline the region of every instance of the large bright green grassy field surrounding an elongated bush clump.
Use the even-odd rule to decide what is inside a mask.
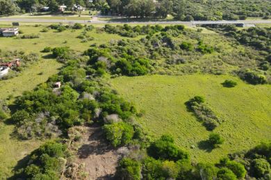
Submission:
[[[228,89],[220,83],[236,80]],[[228,153],[247,150],[271,138],[271,86],[253,86],[229,75],[148,75],[110,80],[113,89],[145,111],[138,122],[156,137],[172,134],[188,150],[193,161],[217,162]],[[204,96],[208,107],[224,120],[214,131],[225,138],[221,148],[204,146],[209,132],[186,110],[193,96]],[[195,145],[196,149],[191,149]]]

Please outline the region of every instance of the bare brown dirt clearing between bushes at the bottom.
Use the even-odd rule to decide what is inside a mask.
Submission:
[[[101,127],[86,128],[76,162],[85,163],[88,179],[114,179],[120,154],[104,141]]]

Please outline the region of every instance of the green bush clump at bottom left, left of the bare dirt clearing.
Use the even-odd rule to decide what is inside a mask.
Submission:
[[[26,167],[20,169],[15,177],[20,179],[60,179],[65,170],[66,146],[49,141],[30,154]]]

